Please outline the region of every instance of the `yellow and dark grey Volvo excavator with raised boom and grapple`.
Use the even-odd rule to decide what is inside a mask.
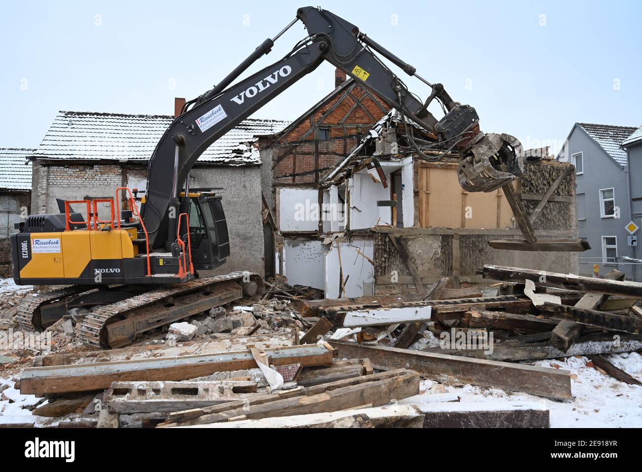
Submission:
[[[307,35],[290,53],[232,83],[298,21]],[[419,158],[438,159],[426,153],[429,149],[458,153],[464,189],[512,189],[507,184],[523,166],[517,139],[483,133],[471,105],[454,101],[440,83],[419,76],[354,24],[327,10],[299,8],[276,37],[266,39],[213,89],[187,101],[150,157],[144,195],[119,188],[114,198],[67,201],[61,213],[31,215],[19,223],[20,231],[11,237],[15,283],[64,286],[26,297],[18,310],[20,326],[42,330],[71,308],[91,308],[80,321],[83,343],[114,348],[149,329],[243,296],[258,297],[263,281],[257,274],[198,277],[198,270],[225,263],[230,247],[221,197],[190,189],[189,172],[214,141],[324,60],[397,109],[404,126],[412,121],[435,137],[434,143],[418,144],[408,134]],[[428,85],[427,100],[418,100],[385,60]],[[434,101],[444,111],[441,119],[428,110]],[[128,208],[121,210],[119,202]],[[110,219],[99,218],[98,204],[108,205]]]

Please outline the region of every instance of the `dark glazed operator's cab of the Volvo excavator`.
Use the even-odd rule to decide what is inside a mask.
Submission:
[[[182,193],[181,197],[184,198],[184,195]],[[214,191],[190,191],[187,205],[189,235],[184,231],[181,239],[189,240],[194,268],[211,270],[219,267],[230,255],[230,241],[221,196],[216,195]]]

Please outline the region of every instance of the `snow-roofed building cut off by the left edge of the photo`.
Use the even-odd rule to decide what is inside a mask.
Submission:
[[[0,277],[11,275],[10,240],[31,202],[31,165],[33,149],[0,148]]]

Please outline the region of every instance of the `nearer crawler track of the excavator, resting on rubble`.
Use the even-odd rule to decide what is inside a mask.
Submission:
[[[263,279],[260,275],[230,272],[158,288],[121,302],[99,306],[82,320],[81,341],[98,349],[130,344],[144,331],[240,299],[245,292],[241,287],[247,281],[257,284],[255,293],[247,293],[247,296],[263,292]],[[108,326],[116,326],[116,323],[119,326],[114,339],[114,333],[108,333]]]

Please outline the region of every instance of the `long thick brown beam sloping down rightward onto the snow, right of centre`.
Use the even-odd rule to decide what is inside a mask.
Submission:
[[[330,344],[338,349],[341,357],[369,358],[375,366],[404,367],[430,378],[449,378],[547,398],[571,398],[569,371],[353,342],[331,341]]]

